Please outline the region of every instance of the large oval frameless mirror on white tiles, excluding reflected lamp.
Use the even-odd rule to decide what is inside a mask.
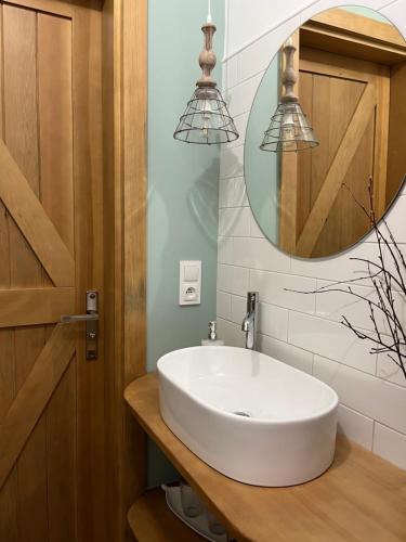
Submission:
[[[332,256],[370,231],[406,175],[406,42],[366,8],[327,10],[290,37],[294,93],[318,140],[300,152],[260,149],[283,102],[284,44],[254,98],[245,142],[249,202],[264,235],[303,258]]]

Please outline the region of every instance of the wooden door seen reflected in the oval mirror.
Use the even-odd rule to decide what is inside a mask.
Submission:
[[[319,257],[351,246],[385,208],[390,68],[316,49],[300,49],[300,101],[319,146],[299,153],[294,254]]]

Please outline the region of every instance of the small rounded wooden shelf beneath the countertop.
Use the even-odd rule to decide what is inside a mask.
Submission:
[[[130,508],[128,521],[137,542],[204,542],[168,508],[161,489],[153,489]]]

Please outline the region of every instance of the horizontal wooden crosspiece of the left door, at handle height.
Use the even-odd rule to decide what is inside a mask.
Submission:
[[[75,310],[75,288],[0,289],[0,328],[58,322]]]

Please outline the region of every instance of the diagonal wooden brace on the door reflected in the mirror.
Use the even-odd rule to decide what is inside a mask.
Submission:
[[[303,227],[297,244],[297,256],[311,256],[326,223],[331,206],[342,186],[342,182],[354,158],[359,140],[368,126],[376,104],[376,87],[374,83],[369,83],[358,102],[354,116],[344,133],[327,177]]]

